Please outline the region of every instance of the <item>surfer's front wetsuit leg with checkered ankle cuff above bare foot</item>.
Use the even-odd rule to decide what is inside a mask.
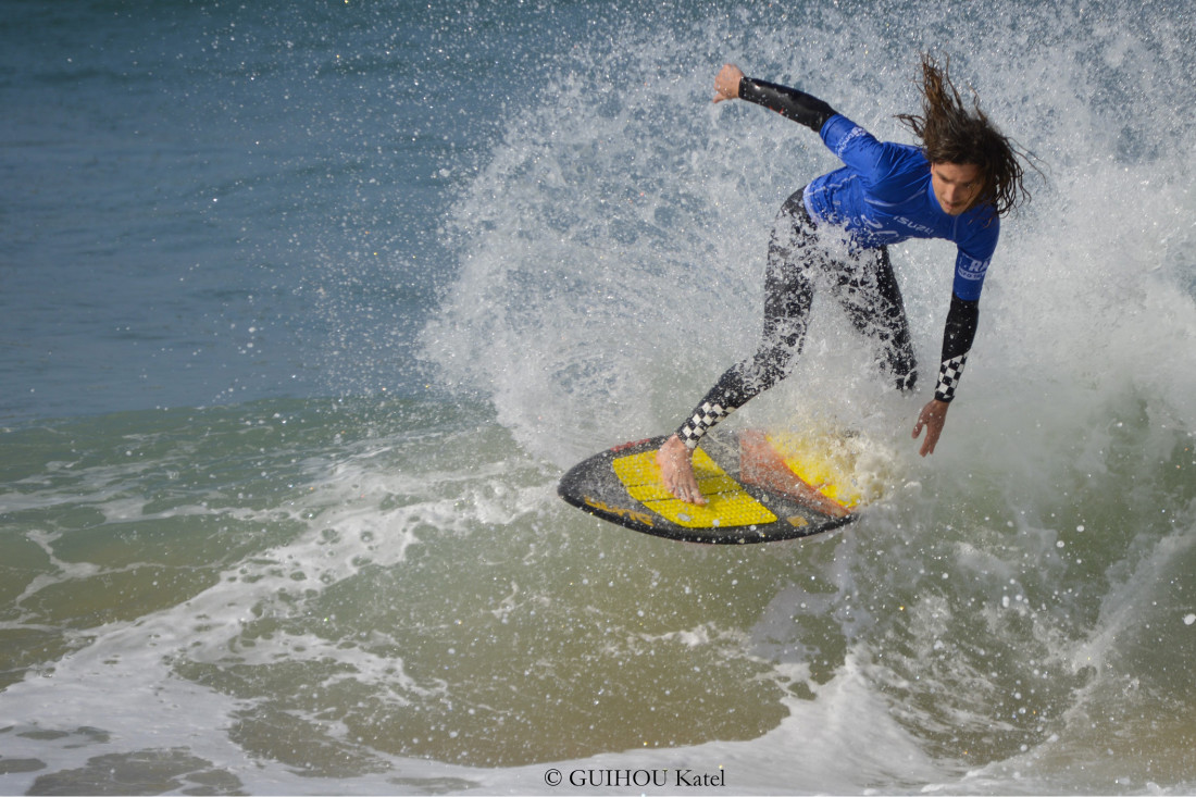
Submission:
[[[777,214],[764,276],[764,331],[756,353],[730,369],[677,430],[690,449],[719,421],[788,376],[805,341],[813,300],[812,269],[824,260],[803,191]]]

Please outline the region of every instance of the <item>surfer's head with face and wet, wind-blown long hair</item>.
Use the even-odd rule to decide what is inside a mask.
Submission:
[[[922,55],[922,114],[901,114],[897,118],[922,139],[935,196],[944,211],[958,215],[987,202],[997,215],[1005,215],[1030,199],[1023,185],[1025,156],[980,109],[975,92],[971,110],[964,105],[951,83],[948,66],[950,61],[940,68],[933,57]],[[950,180],[940,180],[942,175],[936,171],[951,172]],[[947,183],[958,183],[960,190],[953,190],[953,197],[940,191]]]

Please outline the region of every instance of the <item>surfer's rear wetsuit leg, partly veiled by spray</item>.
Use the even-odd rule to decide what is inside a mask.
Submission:
[[[917,382],[917,360],[889,249],[865,250],[853,266],[852,273],[841,275],[835,293],[852,324],[877,347],[880,371],[898,390],[910,390]]]

